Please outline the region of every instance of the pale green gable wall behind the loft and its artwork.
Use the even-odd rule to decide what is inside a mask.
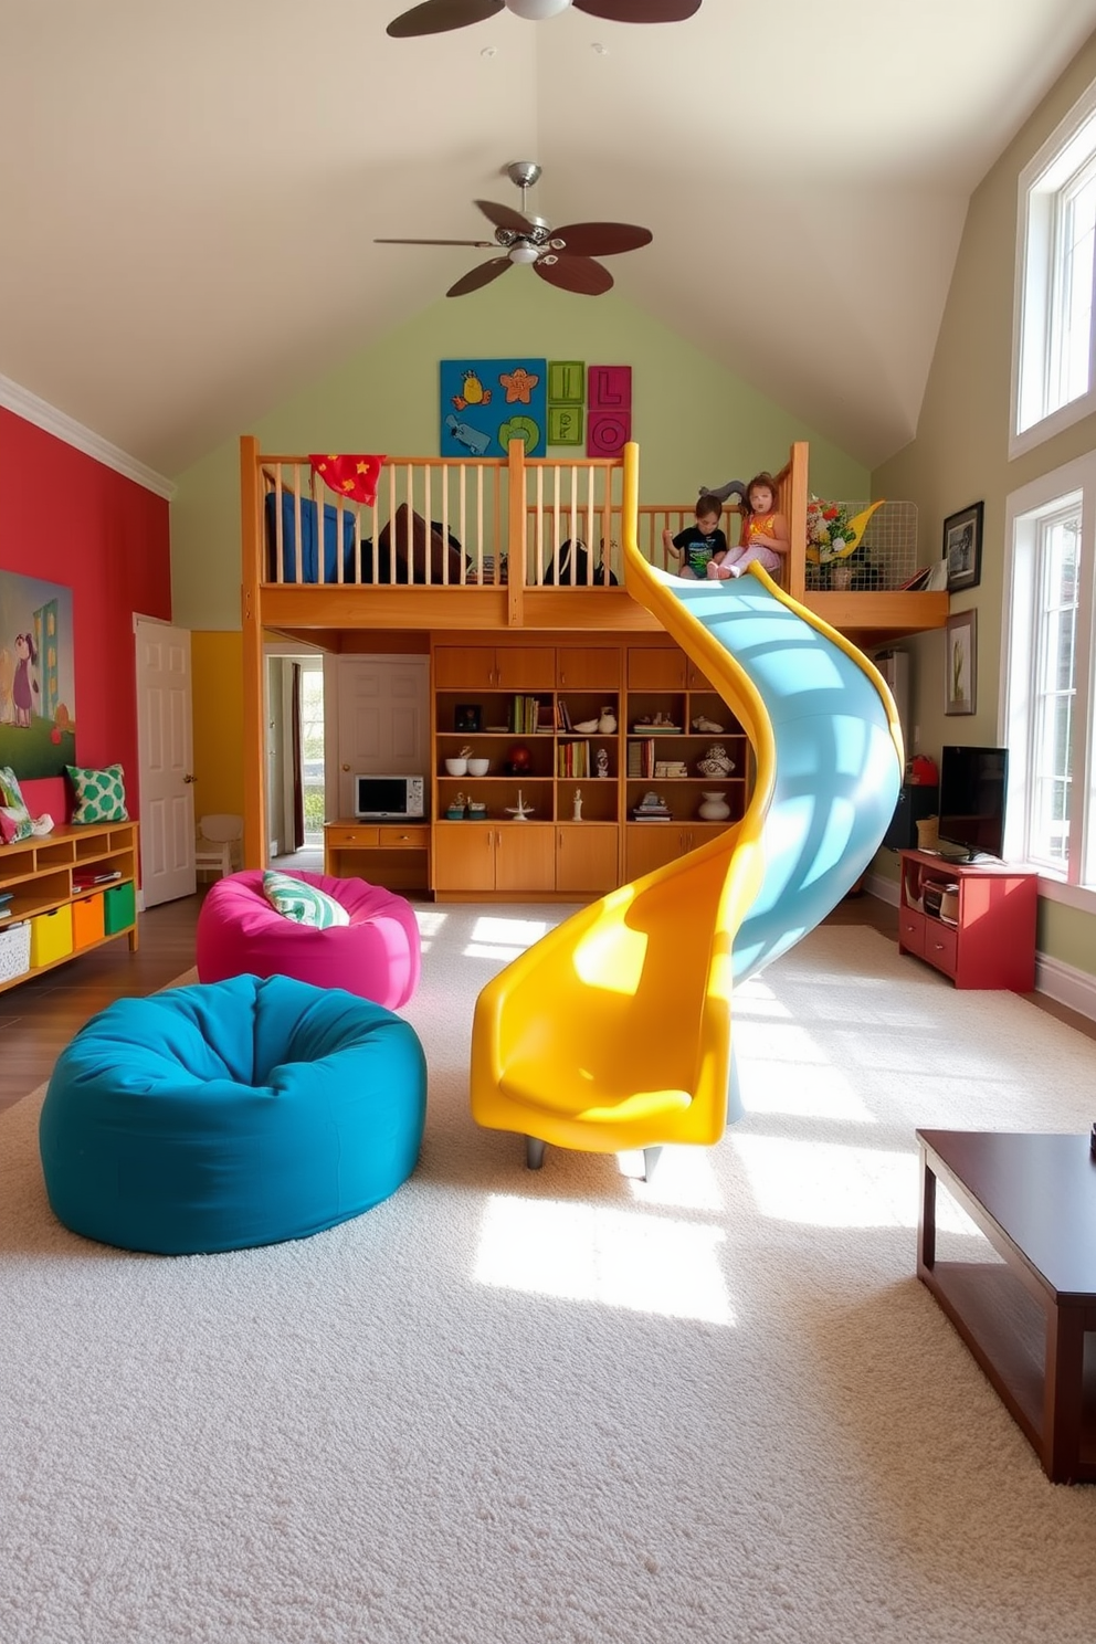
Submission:
[[[615,291],[573,296],[526,268],[467,298],[442,298],[240,432],[283,455],[437,455],[437,365],[465,353],[631,365],[642,501],[692,503],[702,485],[782,469],[797,439],[810,441],[817,492],[871,495],[863,464]],[[575,450],[559,455],[570,460]],[[238,460],[230,441],[176,477],[173,613],[184,628],[240,626]]]

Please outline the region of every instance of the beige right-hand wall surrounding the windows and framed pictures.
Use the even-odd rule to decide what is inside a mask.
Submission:
[[[909,641],[910,751],[938,756],[945,741],[997,743],[1001,725],[1001,636],[1004,602],[1006,498],[1040,473],[1070,462],[1096,442],[1096,418],[1009,462],[1012,298],[1019,174],[1070,107],[1096,79],[1096,36],[1078,53],[1055,90],[1020,130],[971,197],[917,439],[873,473],[873,496],[912,496],[925,544],[942,544],[943,521],[984,501],[981,582],[953,595],[951,608],[978,610],[978,712],[943,713],[943,635]],[[938,554],[937,546],[935,552]],[[894,857],[877,871],[897,878]],[[1096,973],[1096,921],[1040,899],[1038,947]]]

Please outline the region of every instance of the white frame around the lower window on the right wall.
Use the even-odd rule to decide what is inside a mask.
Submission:
[[[1035,543],[1038,521],[1080,498],[1080,579],[1075,648],[1073,781],[1070,794],[1070,861],[1061,873],[1043,863],[1038,893],[1050,901],[1096,914],[1096,452],[1032,480],[1006,503],[1006,598],[1002,605],[999,738],[1009,750],[1004,855],[1025,860],[1032,682],[1035,669]]]

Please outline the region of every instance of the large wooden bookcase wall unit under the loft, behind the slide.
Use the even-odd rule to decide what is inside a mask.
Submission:
[[[662,636],[549,648],[447,633],[432,659],[431,888],[442,899],[610,891],[728,825],[697,815],[705,792],[726,796],[730,820],[746,809],[746,737]],[[697,768],[713,745],[733,761],[726,776]],[[634,820],[651,791],[664,807]]]

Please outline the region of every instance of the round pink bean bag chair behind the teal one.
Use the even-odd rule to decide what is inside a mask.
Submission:
[[[386,1009],[406,1004],[419,985],[419,926],[411,903],[365,880],[294,873],[334,896],[350,924],[312,926],[286,919],[263,896],[263,870],[217,880],[197,916],[200,981],[228,977],[296,977],[317,988],[345,988]]]

